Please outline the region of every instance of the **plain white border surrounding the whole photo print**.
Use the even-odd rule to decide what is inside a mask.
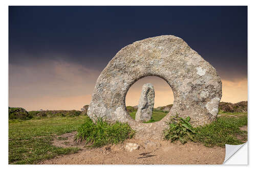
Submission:
[[[24,168],[24,169],[45,169],[45,168],[61,168],[61,169],[70,169],[72,168],[92,168],[92,167],[99,167],[99,168],[106,168],[106,169],[120,169],[121,167],[124,169],[130,169],[130,168],[140,168],[142,165],[8,165],[8,6],[121,6],[121,5],[128,5],[128,6],[248,6],[248,129],[254,129],[255,123],[253,123],[253,120],[256,119],[256,110],[255,107],[253,107],[253,103],[255,101],[255,75],[254,72],[256,72],[256,67],[254,66],[255,63],[255,42],[253,40],[256,39],[255,37],[255,1],[32,1],[32,0],[24,0],[24,1],[1,1],[1,8],[0,8],[0,17],[2,26],[1,29],[1,57],[0,57],[0,69],[1,69],[1,114],[4,115],[1,117],[1,126],[2,126],[2,133],[4,138],[1,140],[1,165],[2,167],[8,167],[8,168]],[[254,127],[254,128],[253,128]],[[236,166],[236,165],[152,165],[152,166],[146,166],[146,168],[163,168],[163,169],[169,169],[169,168],[192,168],[192,169],[205,169],[207,168],[227,168],[230,167],[232,169],[244,169],[245,167],[252,167],[255,166],[255,161],[253,161],[255,158],[252,156],[255,154],[255,135],[250,135],[250,130],[248,130],[248,145],[249,145],[249,166]],[[252,143],[252,144],[249,144]],[[252,159],[250,159],[252,158]],[[121,167],[120,167],[121,166]],[[186,167],[184,167],[186,166]],[[144,166],[143,166],[144,167]]]

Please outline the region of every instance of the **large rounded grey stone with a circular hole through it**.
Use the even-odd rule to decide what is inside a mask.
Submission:
[[[174,93],[174,104],[159,122],[143,124],[131,118],[125,107],[129,88],[139,79],[157,76]],[[135,138],[162,138],[166,121],[178,113],[190,116],[194,126],[217,118],[222,82],[217,71],[181,38],[163,35],[123,47],[101,72],[94,88],[88,115],[111,122],[127,122]]]

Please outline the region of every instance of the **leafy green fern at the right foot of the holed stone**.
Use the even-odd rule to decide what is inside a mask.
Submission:
[[[171,117],[170,121],[167,122],[168,128],[164,130],[164,138],[171,142],[179,140],[182,144],[189,140],[195,141],[194,134],[196,131],[189,121],[189,116],[182,118],[176,113],[176,116]]]

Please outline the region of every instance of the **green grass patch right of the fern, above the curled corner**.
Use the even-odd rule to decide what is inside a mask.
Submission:
[[[227,113],[227,115],[229,115]],[[239,127],[247,125],[247,114],[239,117],[221,116],[211,124],[196,128],[195,140],[206,147],[225,147],[225,144],[242,144],[247,140],[247,132]]]

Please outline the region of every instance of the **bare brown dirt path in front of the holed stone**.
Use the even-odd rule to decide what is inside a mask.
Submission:
[[[77,146],[81,151],[45,160],[39,164],[222,164],[225,158],[225,148],[206,148],[198,143],[183,145],[180,142],[170,143],[163,140],[129,139],[121,144],[90,149],[84,148],[83,144],[76,144],[73,141],[74,133],[60,137],[67,140],[54,140],[54,145]],[[129,142],[139,144],[139,150],[126,151],[125,144]]]

